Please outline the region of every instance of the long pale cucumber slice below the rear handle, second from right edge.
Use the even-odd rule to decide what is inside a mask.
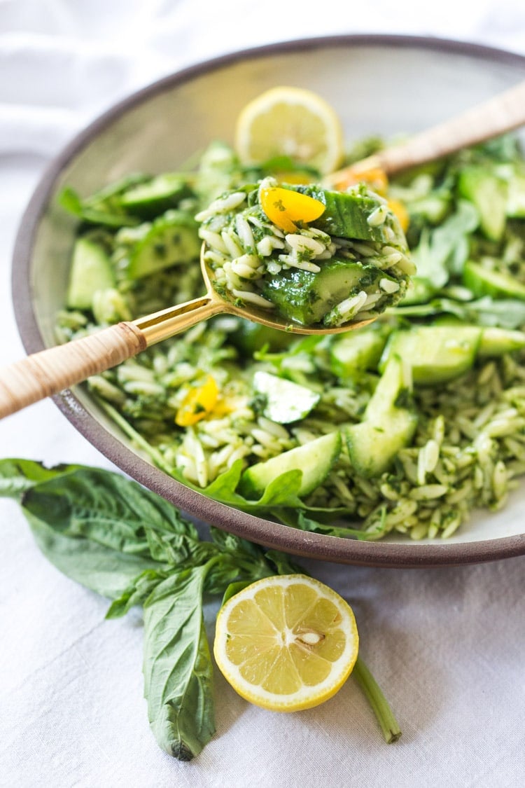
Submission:
[[[480,227],[486,237],[501,240],[507,221],[506,181],[486,167],[471,165],[461,170],[457,188],[478,209]]]

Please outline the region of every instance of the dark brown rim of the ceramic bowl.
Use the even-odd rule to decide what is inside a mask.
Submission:
[[[153,95],[172,89],[178,84],[183,84],[207,72],[234,65],[238,61],[272,57],[275,54],[287,54],[300,50],[320,49],[327,46],[398,46],[436,50],[464,54],[474,59],[519,65],[525,69],[525,56],[521,54],[460,39],[375,33],[326,35],[278,41],[221,54],[207,61],[180,69],[168,76],[163,76],[146,87],[132,92],[95,117],[94,121],[91,121],[83,130],[73,136],[69,143],[52,159],[40,177],[21,217],[13,247],[12,296],[20,339],[28,354],[46,347],[32,308],[32,294],[31,292],[28,294],[35,234],[54,184],[72,158],[82,151],[103,128],[116,121],[128,110],[144,100],[150,99]],[[130,478],[139,481],[140,484],[157,492],[166,500],[170,500],[182,511],[198,518],[201,522],[211,523],[220,529],[230,531],[268,548],[279,549],[308,559],[356,566],[391,568],[484,563],[525,554],[525,533],[511,537],[461,543],[418,544],[408,541],[406,544],[392,544],[388,541],[346,540],[296,530],[289,526],[270,522],[211,500],[201,492],[183,485],[176,479],[169,477],[164,471],[150,465],[135,452],[132,452],[131,448],[115,440],[113,435],[85,410],[74,392],[67,390],[53,399],[72,426]]]

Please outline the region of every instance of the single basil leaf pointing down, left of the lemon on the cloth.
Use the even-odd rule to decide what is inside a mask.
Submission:
[[[144,603],[150,726],[161,748],[179,760],[198,755],[215,732],[213,667],[202,615],[209,568],[205,564],[170,575]]]

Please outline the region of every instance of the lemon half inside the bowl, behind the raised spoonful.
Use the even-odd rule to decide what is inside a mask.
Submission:
[[[235,149],[244,164],[290,156],[330,173],[342,160],[342,125],[320,95],[301,87],[272,87],[239,114]]]

